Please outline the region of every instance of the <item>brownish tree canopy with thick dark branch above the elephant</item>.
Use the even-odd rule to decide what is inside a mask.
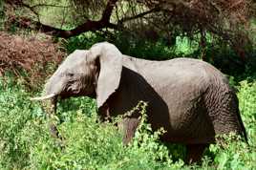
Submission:
[[[132,32],[169,41],[200,35],[205,46],[207,32],[245,57],[255,4],[251,0],[6,0],[6,9],[9,22],[64,38],[89,31]],[[10,12],[17,10],[22,12]]]

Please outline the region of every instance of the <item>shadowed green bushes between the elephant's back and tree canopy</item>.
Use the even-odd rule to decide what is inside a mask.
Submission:
[[[204,50],[199,46],[199,35],[192,40],[180,36],[174,39],[172,44],[168,44],[164,38],[150,41],[141,37],[135,37],[127,32],[114,32],[110,33],[110,35],[106,33],[86,32],[65,40],[63,46],[67,49],[68,53],[72,53],[75,49],[89,49],[97,42],[109,41],[114,43],[121,53],[134,57],[153,60],[192,57],[204,59],[224,74],[239,76],[240,74],[245,74],[245,72],[255,72],[256,51],[253,48],[248,51],[249,53],[245,53],[244,61],[225,42],[220,42],[210,35],[206,38]],[[205,56],[203,56],[203,53]]]

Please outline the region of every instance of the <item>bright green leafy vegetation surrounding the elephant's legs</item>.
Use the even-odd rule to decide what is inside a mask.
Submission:
[[[60,147],[40,103],[29,100],[34,94],[6,75],[0,79],[0,169],[255,169],[254,77],[236,83],[250,146],[226,137],[225,143],[210,146],[202,165],[185,165],[184,147],[161,143],[160,132],[152,133],[145,122],[133,143],[123,146],[114,123],[96,122],[96,104],[88,97],[59,103],[58,128],[65,138]]]

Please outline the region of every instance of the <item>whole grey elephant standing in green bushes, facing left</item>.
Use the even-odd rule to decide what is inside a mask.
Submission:
[[[123,115],[145,101],[153,131],[163,128],[161,140],[185,144],[190,162],[201,159],[216,135],[234,132],[247,140],[234,89],[224,74],[200,59],[139,59],[100,42],[68,55],[44,91],[32,99],[52,99],[54,107],[57,98],[96,98],[102,120]],[[125,144],[134,137],[139,120],[139,113],[123,117]]]

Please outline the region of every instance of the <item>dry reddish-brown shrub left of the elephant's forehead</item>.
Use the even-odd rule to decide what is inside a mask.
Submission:
[[[40,40],[0,32],[0,76],[11,71],[30,89],[38,87],[48,75],[49,64],[57,65],[65,53],[50,38]],[[25,71],[27,76],[22,76]]]

